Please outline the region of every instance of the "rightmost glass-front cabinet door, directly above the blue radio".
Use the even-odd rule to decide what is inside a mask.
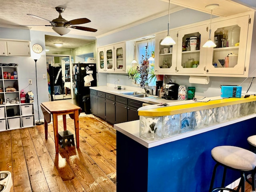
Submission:
[[[206,74],[244,74],[249,16],[212,23]]]

